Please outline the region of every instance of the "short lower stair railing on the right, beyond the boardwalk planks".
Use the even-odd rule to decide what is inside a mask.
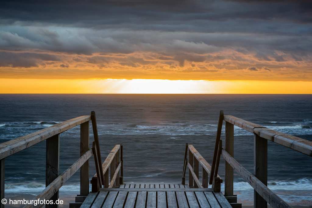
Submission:
[[[221,144],[222,145],[222,144]],[[182,174],[182,184],[185,185],[186,168],[189,170],[188,186],[190,188],[208,188],[208,176],[212,175],[212,189],[214,192],[221,191],[222,179],[218,175],[219,161],[221,155],[221,147],[217,155],[214,172],[211,172],[210,164],[202,157],[202,155],[193,147],[193,145],[185,145],[184,166]],[[188,156],[188,157],[187,157]],[[199,164],[202,167],[202,182],[199,180]]]

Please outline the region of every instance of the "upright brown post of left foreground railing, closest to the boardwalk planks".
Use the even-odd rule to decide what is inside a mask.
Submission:
[[[89,121],[80,124],[80,157],[89,150]],[[89,194],[89,160],[80,167],[80,196]]]

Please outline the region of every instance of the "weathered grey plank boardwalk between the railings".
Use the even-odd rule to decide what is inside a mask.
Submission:
[[[81,208],[100,207],[202,207],[232,208],[225,196],[210,188],[189,188],[183,184],[122,184],[120,188],[90,193]]]

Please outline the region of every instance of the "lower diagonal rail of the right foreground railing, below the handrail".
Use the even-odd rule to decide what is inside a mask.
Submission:
[[[290,206],[282,200],[279,196],[273,193],[266,185],[264,185],[258,178],[242,167],[227,151],[222,149],[222,156],[234,168],[234,170],[245,179],[257,193],[262,196],[272,207],[290,208]]]

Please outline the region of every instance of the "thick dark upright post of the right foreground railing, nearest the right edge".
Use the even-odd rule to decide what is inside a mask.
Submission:
[[[254,175],[268,185],[268,140],[254,134]],[[254,191],[254,208],[266,208],[267,202]]]

